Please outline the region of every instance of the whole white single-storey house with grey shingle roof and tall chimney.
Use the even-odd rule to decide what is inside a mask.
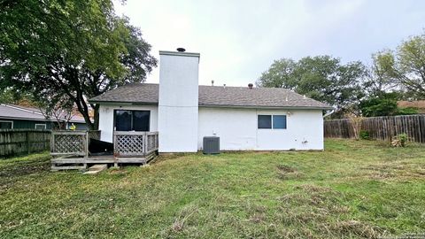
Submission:
[[[158,131],[159,152],[323,150],[321,102],[287,89],[198,86],[198,53],[159,51],[159,84],[132,83],[90,99],[100,104],[101,139],[116,131]]]

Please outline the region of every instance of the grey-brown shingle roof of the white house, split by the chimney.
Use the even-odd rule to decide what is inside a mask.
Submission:
[[[158,91],[158,84],[131,83],[93,97],[89,102],[158,104]],[[332,109],[327,104],[282,88],[199,86],[198,104],[217,107]]]

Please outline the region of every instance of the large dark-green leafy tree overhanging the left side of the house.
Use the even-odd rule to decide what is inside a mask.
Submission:
[[[157,60],[151,45],[111,0],[0,3],[0,89],[12,86],[57,104],[64,96],[90,128],[87,99],[126,82],[144,81]],[[50,107],[53,108],[53,107]]]

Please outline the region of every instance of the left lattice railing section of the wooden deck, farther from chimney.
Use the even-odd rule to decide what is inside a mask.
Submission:
[[[100,130],[56,130],[51,132],[52,156],[77,155],[89,157],[90,139],[100,139]]]

